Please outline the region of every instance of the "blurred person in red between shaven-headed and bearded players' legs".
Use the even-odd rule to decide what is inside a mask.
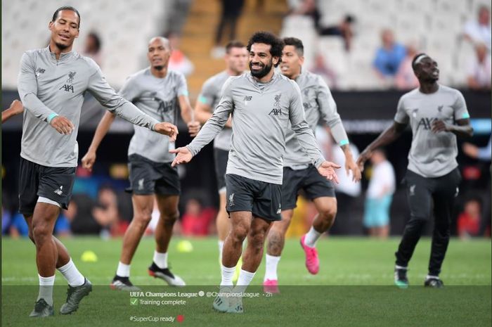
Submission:
[[[181,219],[181,233],[185,236],[207,236],[213,226],[216,212],[212,208],[202,208],[195,198],[186,203],[186,212]]]

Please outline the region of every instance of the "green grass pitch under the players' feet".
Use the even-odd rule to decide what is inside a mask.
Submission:
[[[216,238],[190,239],[192,252],[178,252],[180,240],[171,241],[169,264],[188,284],[183,292],[217,290]],[[429,262],[428,238],[422,238],[410,262],[411,287],[400,290],[393,286],[398,242],[399,238],[323,238],[317,245],[321,269],[313,276],[304,267],[299,241],[287,240],[279,264],[280,295],[269,297],[261,292],[262,262],[247,290],[259,297],[245,298],[245,314],[233,315],[214,312],[213,298],[207,296],[185,298],[185,305],[138,305],[136,297],[108,286],[119,260],[121,239],[68,238],[63,243],[95,287],[75,314],[61,316],[58,309],[65,300],[66,282],[57,273],[53,294],[56,316],[37,319],[36,326],[491,326],[490,240],[451,240],[441,273],[446,285],[443,290],[422,287]],[[34,245],[27,239],[9,238],[3,238],[1,245],[2,326],[32,326],[27,315],[37,297]],[[153,249],[153,238],[143,238],[131,265],[131,281],[153,293],[176,292],[148,276]],[[96,253],[97,262],[82,262],[86,250]],[[183,297],[167,298],[180,299]],[[178,316],[182,322],[176,320]],[[168,318],[174,322],[136,322]]]

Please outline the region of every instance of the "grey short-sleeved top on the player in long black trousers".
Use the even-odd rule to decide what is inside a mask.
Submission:
[[[458,167],[456,136],[451,132],[432,132],[432,123],[443,120],[470,118],[465,98],[460,91],[439,85],[433,94],[423,94],[419,89],[403,94],[394,120],[412,128],[413,139],[408,153],[408,169],[423,177],[441,177]]]

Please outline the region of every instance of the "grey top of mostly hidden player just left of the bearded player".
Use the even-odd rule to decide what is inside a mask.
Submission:
[[[212,110],[216,108],[221,98],[222,86],[230,76],[224,70],[224,72],[219,72],[219,74],[214,75],[207,79],[202,86],[202,91],[200,96],[198,96],[198,101],[209,105]],[[214,148],[221,150],[231,150],[231,135],[233,130],[230,127],[224,127],[224,129],[215,136]]]

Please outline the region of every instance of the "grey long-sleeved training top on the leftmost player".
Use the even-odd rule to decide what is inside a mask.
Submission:
[[[157,123],[119,96],[92,59],[75,51],[61,53],[58,60],[49,47],[26,51],[20,60],[18,91],[26,108],[20,156],[39,165],[77,167],[77,133],[85,91],[133,124],[153,129]],[[75,125],[72,134],[60,134],[48,124],[56,115]]]

